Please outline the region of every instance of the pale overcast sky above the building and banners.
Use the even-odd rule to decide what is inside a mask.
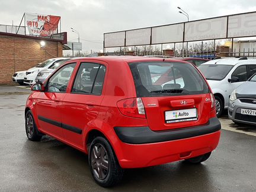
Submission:
[[[177,7],[189,14],[190,21],[256,11],[255,0],[1,0],[0,24],[11,25],[13,20],[19,25],[24,12],[59,15],[68,41],[77,41],[73,27],[83,49],[98,52],[103,49],[98,43],[103,42],[103,33],[187,21]]]

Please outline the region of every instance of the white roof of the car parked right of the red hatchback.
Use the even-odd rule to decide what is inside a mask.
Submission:
[[[239,63],[246,63],[246,64],[256,64],[256,59],[248,58],[242,59],[241,58],[225,58],[225,59],[213,59],[205,62],[201,65],[209,65],[209,64],[217,64],[217,65],[237,65]]]

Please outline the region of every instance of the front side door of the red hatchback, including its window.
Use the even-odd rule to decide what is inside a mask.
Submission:
[[[36,100],[40,129],[57,138],[63,138],[61,105],[75,65],[69,63],[51,76],[46,83],[46,91],[40,92]]]

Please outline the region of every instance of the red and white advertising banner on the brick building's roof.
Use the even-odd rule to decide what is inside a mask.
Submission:
[[[57,33],[60,17],[25,13],[25,25],[33,36],[51,36]]]

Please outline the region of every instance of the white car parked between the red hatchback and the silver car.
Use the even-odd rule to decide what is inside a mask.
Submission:
[[[199,70],[215,95],[216,114],[228,108],[232,91],[256,72],[256,59],[247,57],[215,59],[201,64]]]

